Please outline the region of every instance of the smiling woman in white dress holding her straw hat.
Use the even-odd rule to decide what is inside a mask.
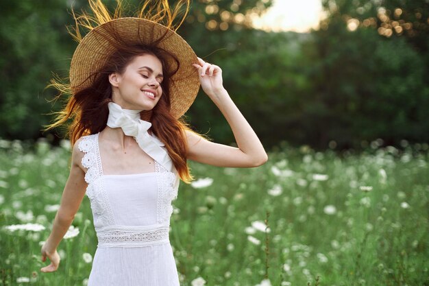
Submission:
[[[179,179],[193,179],[186,160],[257,167],[267,154],[223,88],[221,69],[197,58],[175,33],[173,20],[185,4],[184,20],[189,2],[170,10],[167,1],[146,1],[143,7],[153,8],[133,18],[121,17],[120,4],[111,16],[100,0],[90,0],[94,16],[75,17],[79,45],[70,84],[53,82],[71,97],[47,129],[72,118],[73,153],[41,250],[42,261],[51,263],[41,271],[58,269],[58,244],[86,194],[99,242],[88,285],[179,285],[169,219]],[[82,38],[79,27],[90,32]],[[180,119],[200,84],[227,119],[238,147],[210,142]]]

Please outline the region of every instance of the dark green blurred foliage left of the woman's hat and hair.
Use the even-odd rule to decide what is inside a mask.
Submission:
[[[37,138],[51,110],[43,92],[51,71],[65,71],[62,1],[5,1],[0,10],[0,137]]]

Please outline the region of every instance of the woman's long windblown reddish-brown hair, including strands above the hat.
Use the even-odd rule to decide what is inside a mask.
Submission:
[[[82,12],[80,16],[76,16],[72,9],[75,27],[68,27],[68,31],[78,43],[83,38],[81,28],[90,31],[98,25],[121,18],[123,15],[121,0],[117,0],[117,8],[114,10],[113,15],[108,12],[108,9],[101,0],[88,1],[93,15]],[[184,11],[181,11],[182,6],[185,6]],[[138,11],[138,17],[161,23],[175,31],[183,23],[188,9],[189,0],[178,1],[173,10],[171,10],[167,0],[145,1],[142,8]],[[173,23],[180,13],[183,16],[179,23]],[[113,26],[109,35],[117,36],[117,32],[113,30]],[[162,80],[161,84],[162,96],[152,110],[143,110],[140,112],[140,118],[152,123],[152,132],[164,143],[180,178],[186,183],[191,182],[194,178],[190,174],[186,163],[187,141],[185,130],[193,132],[200,137],[208,138],[191,130],[188,123],[182,117],[175,119],[169,112],[171,107],[169,86],[172,80],[171,77],[180,67],[180,62],[173,54],[157,47],[160,41],[162,41],[162,36],[149,45],[143,43],[141,45],[130,45],[117,36],[112,41],[115,51],[108,56],[106,64],[103,64],[97,71],[93,71],[88,75],[86,80],[90,82],[90,85],[86,88],[76,91],[76,86],[71,86],[69,82],[60,80],[58,77],[53,78],[47,88],[53,87],[60,92],[54,99],[58,99],[62,95],[68,95],[68,98],[62,110],[52,113],[57,115],[56,119],[54,119],[53,123],[44,126],[46,127],[45,131],[65,125],[71,145],[74,145],[81,136],[96,134],[106,128],[109,115],[108,103],[112,101],[112,87],[108,76],[114,72],[122,74],[127,64],[132,62],[136,56],[151,54],[156,56],[162,63],[162,73],[164,75],[164,80]],[[73,122],[67,124],[69,119],[72,119]]]

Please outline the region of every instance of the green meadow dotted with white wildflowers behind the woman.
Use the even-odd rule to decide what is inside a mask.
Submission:
[[[363,152],[283,146],[250,169],[190,162],[170,240],[182,285],[429,285],[427,144]],[[70,148],[0,140],[0,285],[86,285],[88,198],[41,273]],[[316,281],[319,276],[318,281]]]

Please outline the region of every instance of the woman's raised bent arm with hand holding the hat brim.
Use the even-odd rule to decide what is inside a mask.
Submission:
[[[222,70],[198,58],[194,67],[204,92],[221,110],[230,124],[238,147],[210,142],[193,132],[186,132],[188,159],[218,167],[258,167],[268,160],[258,136],[223,88]]]

